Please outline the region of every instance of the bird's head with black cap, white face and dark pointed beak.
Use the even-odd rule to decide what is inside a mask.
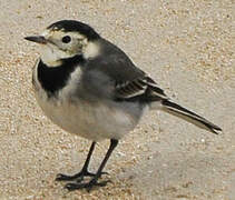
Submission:
[[[41,44],[41,60],[48,67],[60,66],[62,60],[82,56],[89,59],[98,56],[100,36],[88,24],[62,20],[49,26],[40,36],[26,37]]]

